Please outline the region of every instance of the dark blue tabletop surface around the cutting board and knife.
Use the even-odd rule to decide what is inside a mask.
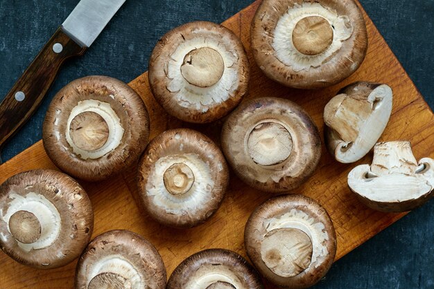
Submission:
[[[12,158],[42,138],[46,108],[62,86],[87,75],[130,82],[148,68],[157,39],[188,21],[220,23],[252,0],[127,0],[84,57],[67,63],[26,126],[2,152]],[[0,99],[78,0],[0,0]],[[434,107],[434,0],[361,0]],[[422,157],[422,156],[418,156]],[[434,288],[434,201],[336,262],[318,288]]]

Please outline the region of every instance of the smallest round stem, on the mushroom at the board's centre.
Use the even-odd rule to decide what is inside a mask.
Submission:
[[[164,186],[174,196],[189,192],[194,183],[194,174],[188,165],[176,163],[164,172]]]

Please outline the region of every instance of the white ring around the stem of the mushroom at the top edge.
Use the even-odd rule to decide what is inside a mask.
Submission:
[[[333,28],[333,41],[324,52],[318,55],[304,55],[295,48],[293,31],[300,20],[312,16],[322,17],[329,21]],[[327,62],[340,50],[342,42],[349,39],[352,34],[353,26],[349,17],[338,15],[336,11],[326,8],[318,2],[303,1],[302,4],[295,3],[277,21],[272,48],[275,50],[277,59],[286,66],[292,67],[294,71],[309,71],[311,67],[315,68]]]

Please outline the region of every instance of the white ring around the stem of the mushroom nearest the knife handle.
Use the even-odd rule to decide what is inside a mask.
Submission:
[[[86,151],[77,147],[69,133],[72,120],[80,113],[84,113],[86,111],[92,111],[98,115],[101,115],[101,118],[105,120],[109,129],[107,142],[105,142],[101,148],[94,151]],[[67,122],[67,129],[64,133],[67,138],[67,142],[76,155],[80,156],[80,158],[83,160],[94,160],[105,156],[107,153],[110,153],[110,151],[116,149],[116,147],[119,147],[123,137],[123,132],[124,129],[122,127],[121,120],[119,119],[118,115],[116,115],[116,112],[112,109],[110,104],[107,102],[100,102],[98,100],[83,100],[82,102],[78,102],[77,106],[71,110],[71,114],[69,115]]]

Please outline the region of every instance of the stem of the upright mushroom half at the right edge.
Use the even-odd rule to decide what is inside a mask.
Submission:
[[[380,142],[374,147],[371,171],[376,176],[390,174],[413,175],[417,160],[408,141]]]

